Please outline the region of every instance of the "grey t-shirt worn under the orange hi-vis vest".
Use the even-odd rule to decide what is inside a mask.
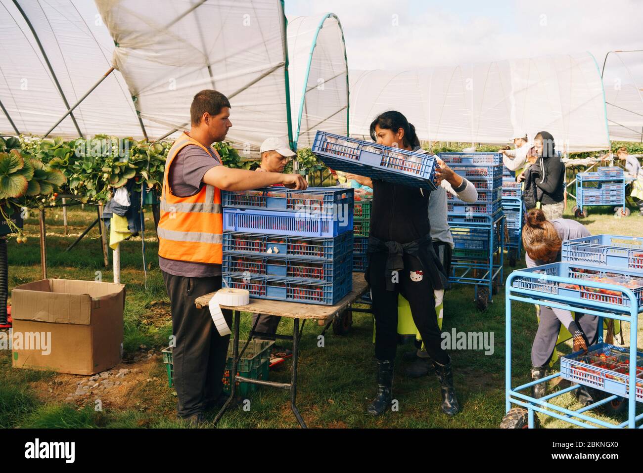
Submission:
[[[214,166],[221,163],[212,150],[205,152],[196,145],[187,145],[176,155],[168,172],[168,183],[172,193],[178,197],[189,197],[201,190],[205,184],[203,176]],[[189,278],[210,278],[221,276],[220,264],[194,263],[190,261],[168,260],[159,256],[162,271],[174,276]]]

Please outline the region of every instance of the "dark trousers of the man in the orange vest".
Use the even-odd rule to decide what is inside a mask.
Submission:
[[[208,307],[199,309],[194,305],[200,296],[221,289],[221,276],[186,278],[162,272],[172,306],[172,334],[176,337],[172,350],[176,410],[179,416],[187,417],[203,412],[223,389],[230,335],[219,335]],[[222,312],[232,326],[231,310]]]

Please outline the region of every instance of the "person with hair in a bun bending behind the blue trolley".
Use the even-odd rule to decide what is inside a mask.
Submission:
[[[547,220],[540,209],[532,209],[525,215],[522,239],[525,246],[525,261],[532,268],[543,264],[561,261],[561,245],[563,240],[590,237],[592,234],[585,226],[576,220],[554,219]],[[574,352],[587,350],[596,343],[598,337],[598,317],[587,314],[572,314],[568,310],[549,307],[537,307],[539,316],[538,330],[531,347],[531,377],[538,380],[545,377],[547,368],[552,366],[552,359],[557,357],[556,344],[559,341],[561,324],[569,331],[574,339]],[[538,310],[539,309],[539,310]],[[532,386],[532,397],[540,398],[545,395],[547,386],[539,383]],[[588,389],[575,390],[579,402],[592,404],[592,394]]]

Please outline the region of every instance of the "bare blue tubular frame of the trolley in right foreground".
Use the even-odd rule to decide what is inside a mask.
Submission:
[[[635,415],[636,404],[637,404],[636,402],[636,392],[637,392],[636,391],[636,368],[637,368],[636,360],[637,360],[637,321],[638,321],[637,317],[639,312],[637,296],[635,296],[635,294],[632,292],[631,289],[628,289],[626,287],[613,285],[613,284],[593,282],[593,281],[592,282],[584,281],[583,284],[585,286],[590,286],[596,289],[618,290],[619,292],[622,292],[623,298],[629,299],[629,307],[621,307],[621,306],[617,306],[617,305],[613,305],[613,304],[609,304],[601,301],[594,301],[594,300],[583,300],[581,303],[580,299],[570,298],[566,296],[558,296],[557,294],[550,294],[550,293],[547,293],[547,297],[550,300],[544,300],[542,299],[544,296],[543,292],[539,292],[538,290],[530,290],[530,289],[513,287],[512,285],[513,280],[516,277],[520,277],[520,276],[533,278],[534,273],[527,272],[527,271],[520,271],[520,270],[514,271],[511,274],[509,274],[509,277],[507,278],[507,282],[506,282],[507,284],[505,288],[505,294],[506,294],[506,300],[505,300],[505,305],[506,305],[505,307],[505,317],[506,317],[506,321],[505,321],[505,343],[506,343],[505,345],[505,411],[506,413],[509,413],[509,410],[511,409],[512,404],[516,404],[516,406],[521,406],[524,409],[527,409],[530,429],[534,427],[534,412],[543,413],[545,415],[552,416],[559,420],[569,422],[570,424],[578,425],[579,427],[593,428],[595,427],[595,425],[599,425],[601,427],[608,427],[612,429],[624,428],[624,427],[629,427],[630,429],[636,428],[637,421],[643,418],[643,414],[640,414],[638,416]],[[541,276],[541,279],[544,281],[553,281],[553,282],[563,283],[563,284],[575,284],[578,282],[578,280],[574,280],[572,278],[562,278],[559,276],[550,276],[547,274],[541,274],[540,276]],[[590,411],[595,407],[602,406],[603,404],[606,404],[608,402],[611,402],[611,400],[618,398],[619,396],[617,395],[608,395],[608,397],[598,402],[594,402],[593,404],[590,404],[590,406],[582,407],[577,411],[571,411],[570,409],[566,409],[565,407],[555,406],[554,404],[551,404],[550,402],[548,402],[552,398],[558,397],[570,391],[574,391],[574,389],[578,389],[579,386],[581,386],[579,384],[574,384],[569,388],[561,389],[556,393],[551,393],[549,395],[546,395],[538,399],[519,392],[519,391],[523,391],[524,389],[529,389],[535,384],[548,382],[549,380],[557,378],[561,375],[561,373],[554,373],[553,375],[549,375],[542,379],[528,382],[527,384],[522,384],[521,386],[517,386],[516,388],[511,387],[511,301],[526,302],[530,304],[541,305],[544,307],[561,308],[561,309],[570,310],[570,311],[582,310],[584,314],[598,316],[599,317],[598,343],[602,342],[602,328],[603,328],[602,319],[603,318],[617,319],[622,322],[629,322],[630,324],[629,381],[628,381],[629,382],[629,405],[628,405],[629,410],[628,410],[628,420],[626,422],[622,422],[621,424],[610,424],[609,422],[605,422],[597,418],[592,418],[584,414],[586,411]],[[617,314],[615,312],[620,312],[620,314]],[[590,425],[590,424],[595,424],[595,425]],[[638,428],[641,428],[641,427],[643,427],[643,425],[639,426]]]

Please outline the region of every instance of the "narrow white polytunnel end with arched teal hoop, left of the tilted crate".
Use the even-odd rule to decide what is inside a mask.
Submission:
[[[287,27],[293,136],[311,147],[318,129],[348,134],[349,84],[340,20],[333,13],[294,17]]]

